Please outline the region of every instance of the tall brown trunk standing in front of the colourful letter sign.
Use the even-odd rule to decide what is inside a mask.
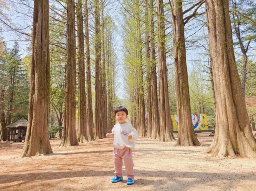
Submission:
[[[172,1],[175,87],[178,116],[177,145],[201,145],[195,134],[190,108],[182,1]]]

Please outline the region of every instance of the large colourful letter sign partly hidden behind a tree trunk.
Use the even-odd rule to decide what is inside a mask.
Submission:
[[[207,115],[205,114],[191,114],[192,124],[194,130],[206,130],[208,129]],[[178,131],[178,117],[177,115],[171,115],[173,123],[173,131]]]

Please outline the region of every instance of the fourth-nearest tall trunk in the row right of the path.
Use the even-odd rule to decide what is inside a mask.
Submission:
[[[156,60],[155,60],[155,34],[154,34],[154,6],[150,0],[149,11],[149,41],[150,41],[150,64],[151,64],[151,89],[152,89],[152,134],[151,139],[160,139],[160,121],[157,98]]]

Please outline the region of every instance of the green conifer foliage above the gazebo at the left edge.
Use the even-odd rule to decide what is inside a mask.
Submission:
[[[28,114],[29,83],[28,71],[24,68],[19,55],[19,45],[15,42],[13,48],[5,49],[5,55],[0,57],[0,87],[5,90],[4,103],[1,104],[6,114],[9,113],[12,105],[12,115],[14,115],[12,122],[19,116],[25,117]],[[11,93],[13,93],[12,102]],[[15,117],[16,114],[18,117]]]

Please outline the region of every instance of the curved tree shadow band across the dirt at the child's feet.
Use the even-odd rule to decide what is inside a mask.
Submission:
[[[61,176],[60,176],[61,175]],[[31,183],[33,181],[51,181],[65,178],[75,178],[75,177],[109,177],[113,175],[113,170],[69,170],[61,172],[34,172],[34,173],[18,173],[12,175],[0,175],[0,184],[5,183],[21,183],[10,185],[10,186],[0,186],[0,189],[8,189],[13,186],[18,186],[19,184]],[[124,176],[126,172],[124,171]],[[239,173],[209,173],[209,172],[187,172],[187,171],[162,171],[162,170],[136,170],[135,175],[137,177],[144,177],[136,179],[136,185],[153,185],[155,187],[163,186],[168,182],[172,184],[180,185],[182,189],[190,188],[194,184],[199,183],[214,183],[214,181],[219,180],[228,181],[228,184],[233,184],[237,180],[251,180],[255,181],[256,176],[245,176],[245,174]],[[235,177],[235,180],[234,180]],[[154,178],[154,180],[152,179]],[[157,179],[155,179],[157,178]],[[186,179],[186,180],[185,180]],[[211,182],[210,182],[210,181]],[[68,181],[68,180],[65,180]],[[124,182],[125,183],[125,182]],[[232,186],[232,185],[231,185]]]

